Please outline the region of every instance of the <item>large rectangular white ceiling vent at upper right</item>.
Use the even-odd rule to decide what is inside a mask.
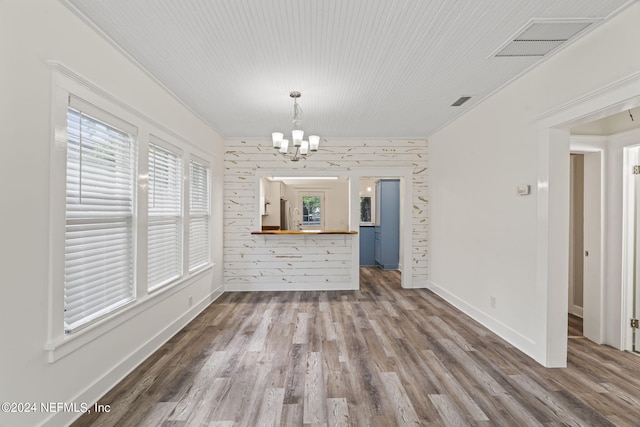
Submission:
[[[535,20],[505,43],[493,56],[542,57],[558,49],[590,25],[594,20]]]

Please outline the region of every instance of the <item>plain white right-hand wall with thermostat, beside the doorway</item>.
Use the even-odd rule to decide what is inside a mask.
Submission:
[[[638,22],[635,4],[429,139],[430,285],[541,363],[548,329],[566,325],[547,322],[547,282],[537,283],[538,120],[638,72],[640,56],[630,54]],[[568,153],[568,135],[566,147],[554,147]],[[532,195],[516,196],[519,184]]]

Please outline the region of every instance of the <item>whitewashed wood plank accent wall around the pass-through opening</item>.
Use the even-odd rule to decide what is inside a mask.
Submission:
[[[335,170],[359,176],[372,168],[411,168],[412,262],[403,266],[414,287],[427,285],[427,141],[329,139],[318,153],[293,163],[270,141],[227,140],[224,156],[224,279],[227,290],[353,289],[353,244],[358,235],[265,236],[258,231],[256,175],[262,171]],[[367,174],[366,176],[371,176]],[[406,225],[405,225],[406,226]],[[357,230],[356,227],[352,229]],[[355,255],[357,257],[357,254]]]

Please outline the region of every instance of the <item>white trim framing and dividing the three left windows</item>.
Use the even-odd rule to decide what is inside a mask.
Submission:
[[[123,103],[113,95],[96,86],[89,80],[81,77],[63,64],[55,61],[48,62],[52,70],[52,140],[50,145],[50,182],[49,182],[49,282],[48,282],[48,325],[47,342],[44,349],[48,352],[48,360],[53,363],[73,351],[81,348],[89,342],[99,338],[109,330],[116,328],[122,323],[135,318],[140,313],[148,310],[164,299],[174,295],[180,290],[194,283],[202,275],[209,272],[214,264],[211,253],[212,239],[210,236],[210,260],[206,265],[194,271],[183,268],[182,276],[168,285],[155,288],[153,291],[147,289],[147,230],[141,226],[146,224],[148,206],[148,143],[149,134],[153,134],[172,145],[183,150],[183,168],[187,168],[191,156],[210,165],[214,164],[207,154],[203,153],[197,146],[164,128],[162,125],[137,112],[132,107]],[[134,234],[135,234],[135,278],[136,278],[136,299],[109,315],[88,323],[71,334],[64,331],[64,248],[65,223],[66,223],[66,145],[67,145],[67,110],[68,99],[73,94],[85,101],[126,120],[138,128],[137,141],[137,209],[134,212]],[[184,175],[183,180],[188,175]],[[214,174],[211,172],[211,180]],[[209,200],[213,183],[210,185]],[[188,183],[183,188],[183,230],[188,230],[188,216],[185,216],[184,209],[188,209]],[[142,208],[144,206],[144,208]],[[188,211],[186,212],[188,214]],[[188,233],[183,231],[183,263],[188,260]]]

